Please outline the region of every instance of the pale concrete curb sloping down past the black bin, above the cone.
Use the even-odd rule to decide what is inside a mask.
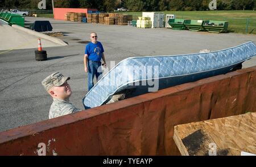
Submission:
[[[51,37],[51,36],[48,36],[48,35],[44,35],[43,33],[36,32],[36,31],[31,30],[31,29],[21,27],[19,25],[13,24],[11,27],[19,29],[19,30],[24,31],[24,32],[27,32],[27,33],[30,33],[31,35],[34,35],[34,36],[37,36],[37,37],[44,38],[46,40],[55,42],[56,44],[60,44],[60,45],[63,45],[63,46],[67,46],[68,45],[64,41],[60,40],[59,38],[55,38],[55,37]]]

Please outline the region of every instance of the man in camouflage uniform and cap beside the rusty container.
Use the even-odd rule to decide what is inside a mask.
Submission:
[[[69,102],[69,97],[72,94],[71,88],[67,83],[69,79],[70,77],[63,76],[60,72],[55,72],[42,81],[46,91],[53,97],[49,110],[49,119],[81,111]]]

